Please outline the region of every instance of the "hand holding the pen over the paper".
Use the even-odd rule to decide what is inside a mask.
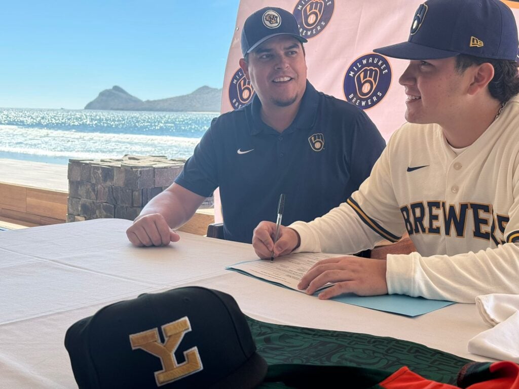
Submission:
[[[274,244],[274,237],[276,236],[276,223],[271,221],[262,221],[254,229],[252,235],[252,247],[256,255],[262,259],[267,259],[272,256],[280,257],[282,255],[290,254],[299,245],[299,235],[295,230],[288,227],[279,226],[278,241]]]

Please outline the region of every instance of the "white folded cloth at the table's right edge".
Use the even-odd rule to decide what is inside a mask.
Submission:
[[[493,328],[469,340],[468,351],[519,363],[519,295],[477,296],[476,308]]]

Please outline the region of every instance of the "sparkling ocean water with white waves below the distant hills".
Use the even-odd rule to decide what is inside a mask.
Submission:
[[[0,158],[66,164],[73,159],[188,158],[216,112],[0,108]]]

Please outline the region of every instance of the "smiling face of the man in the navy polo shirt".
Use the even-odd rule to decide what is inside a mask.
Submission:
[[[306,88],[303,46],[290,35],[266,40],[254,49],[248,61],[240,60],[264,108],[298,104]]]

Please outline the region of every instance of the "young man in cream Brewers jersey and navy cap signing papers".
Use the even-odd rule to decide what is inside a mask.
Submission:
[[[499,0],[429,0],[408,41],[376,49],[408,59],[407,123],[358,191],[310,223],[262,222],[258,256],[356,253],[407,232],[417,252],[320,261],[299,287],[319,297],[403,294],[474,302],[519,294],[517,26]]]

